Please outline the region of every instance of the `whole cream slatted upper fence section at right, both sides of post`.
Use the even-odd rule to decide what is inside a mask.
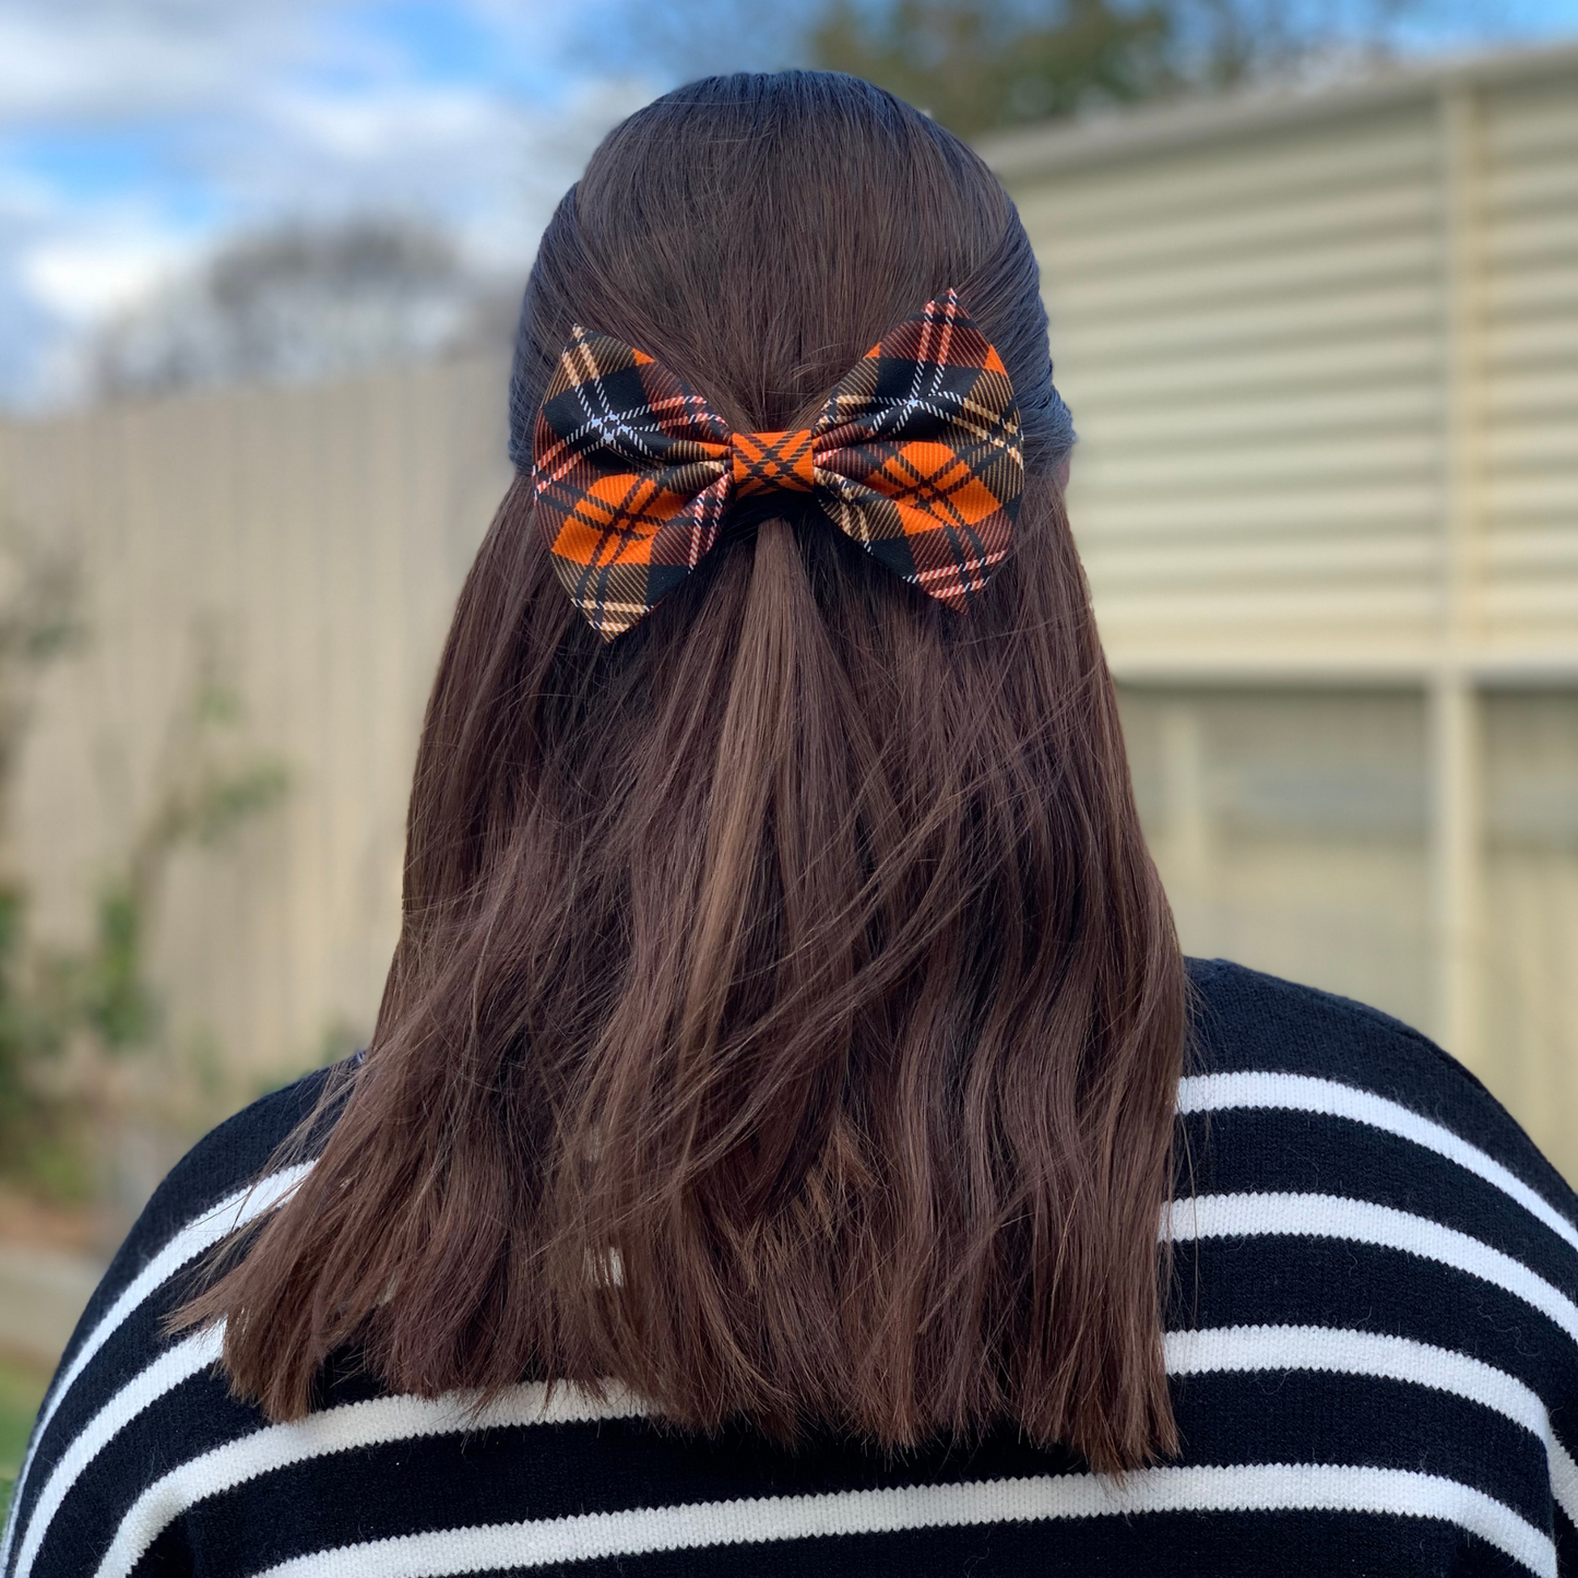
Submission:
[[[1120,672],[1578,664],[1578,60],[1529,76],[1021,140]]]

